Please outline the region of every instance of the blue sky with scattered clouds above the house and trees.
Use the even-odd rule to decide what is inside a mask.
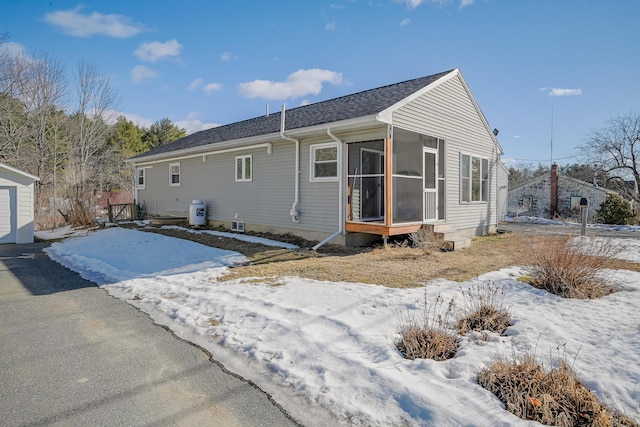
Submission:
[[[640,111],[638,16],[637,0],[3,0],[0,32],[70,79],[95,65],[134,122],[189,131],[459,68],[508,164],[535,165],[579,161]]]

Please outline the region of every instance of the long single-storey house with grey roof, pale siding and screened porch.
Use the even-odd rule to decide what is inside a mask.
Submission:
[[[197,199],[209,224],[235,230],[357,245],[426,226],[455,246],[496,229],[501,154],[454,69],[200,131],[128,161],[150,215],[186,218]]]

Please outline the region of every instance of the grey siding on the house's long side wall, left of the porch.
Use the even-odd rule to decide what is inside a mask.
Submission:
[[[309,144],[301,142],[300,177],[308,176]],[[249,151],[249,150],[248,150]],[[247,226],[286,228],[333,233],[338,226],[338,182],[311,184],[300,179],[300,223],[291,220],[294,201],[295,145],[274,142],[272,154],[264,148],[251,152],[207,155],[181,160],[181,186],[169,187],[166,170],[169,161],[147,169],[146,189],[138,191],[138,199],[150,214],[187,217],[192,200],[204,200],[207,219],[244,221]],[[236,185],[238,156],[251,155],[252,176],[260,177]],[[237,214],[237,218],[236,218]]]

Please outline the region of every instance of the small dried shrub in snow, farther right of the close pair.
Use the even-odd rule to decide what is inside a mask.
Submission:
[[[461,335],[471,331],[503,334],[512,325],[509,310],[504,307],[504,286],[493,282],[480,283],[469,290],[462,290],[462,297],[463,317],[456,323]]]

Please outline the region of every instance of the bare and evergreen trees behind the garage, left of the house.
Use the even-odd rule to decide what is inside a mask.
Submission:
[[[125,159],[186,135],[168,118],[144,128],[116,116],[119,102],[88,62],[69,77],[49,54],[0,51],[0,162],[40,178],[36,228],[92,225],[96,195],[133,194]]]

